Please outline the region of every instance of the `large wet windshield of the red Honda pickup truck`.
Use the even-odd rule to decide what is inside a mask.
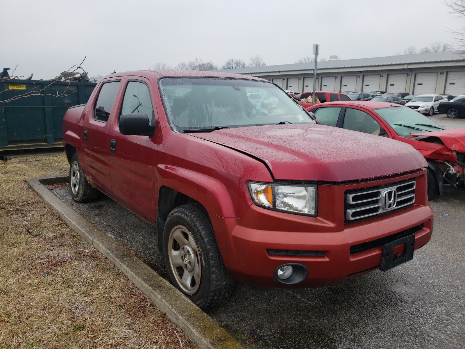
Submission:
[[[222,78],[163,78],[166,115],[178,132],[281,123],[315,123],[271,83]]]

